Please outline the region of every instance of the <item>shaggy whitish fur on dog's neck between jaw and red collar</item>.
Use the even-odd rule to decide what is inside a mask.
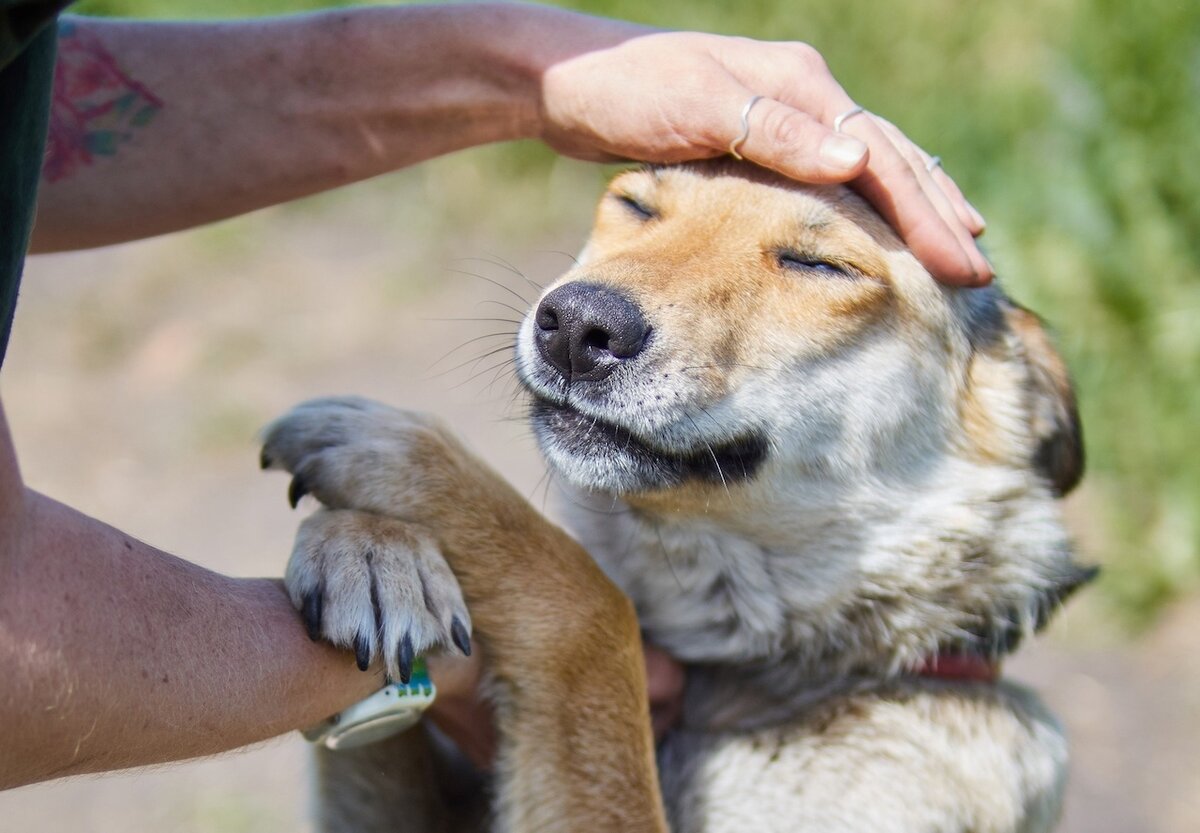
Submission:
[[[892,673],[989,621],[1031,629],[1069,574],[1057,505],[1026,472],[943,457],[919,487],[774,480],[686,517],[576,492],[569,527],[648,639],[694,663]]]

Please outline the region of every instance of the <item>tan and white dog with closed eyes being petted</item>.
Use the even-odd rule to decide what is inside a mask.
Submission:
[[[572,534],[644,637],[686,666],[683,717],[656,755],[671,829],[1055,826],[1062,730],[998,677],[1094,575],[1061,519],[1082,443],[1068,372],[1036,316],[995,286],[935,282],[846,188],[728,161],[648,167],[610,185],[577,265],[522,322],[516,367]],[[340,570],[364,570],[362,540],[378,552],[425,525],[422,540],[395,545],[397,562],[444,555],[493,640],[506,639],[505,604],[538,581],[532,553],[569,546],[431,425],[325,400],[268,432],[269,460],[329,507],[305,522],[288,582],[301,607],[325,588],[319,630],[335,643],[365,639],[374,655],[373,634],[386,646],[407,629],[425,649],[450,642],[445,611],[466,616],[457,597],[422,611],[410,580],[378,569],[382,623],[364,582],[340,598],[330,588],[344,589]],[[341,527],[329,521],[338,511]],[[404,527],[371,526],[392,522]],[[619,630],[595,639],[628,652]],[[610,730],[588,743],[644,754],[644,730]],[[502,731],[502,829],[661,823],[641,790],[653,774],[613,790],[593,771],[601,804],[623,805],[628,790],[638,814],[598,823],[562,799],[587,793],[569,759],[595,749],[517,718]],[[326,829],[442,829],[406,826],[420,815],[407,802],[425,807],[416,793],[446,795],[446,773],[461,772],[431,762],[451,755],[431,737],[409,732],[365,765],[326,754]],[[406,786],[379,772],[414,744],[425,751],[409,756]],[[559,766],[546,766],[550,750]],[[553,813],[534,823],[530,807]],[[487,823],[440,811],[443,826]]]

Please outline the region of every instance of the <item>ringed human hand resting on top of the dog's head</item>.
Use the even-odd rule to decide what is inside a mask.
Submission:
[[[834,131],[856,104],[816,49],[612,25],[622,26],[607,32],[616,42],[542,73],[542,138],[552,148],[595,161],[712,158],[730,152],[743,109],[763,96],[750,108],[743,157],[803,182],[847,182],[944,283],[991,280],[973,240],[983,217],[925,151],[870,113]]]

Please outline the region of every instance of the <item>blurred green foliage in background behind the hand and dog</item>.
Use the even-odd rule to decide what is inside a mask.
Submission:
[[[77,10],[178,18],[325,5],[86,0]],[[558,5],[808,41],[857,101],[941,155],[989,218],[1009,292],[1056,325],[1074,368],[1090,467],[1081,537],[1085,555],[1108,565],[1115,610],[1145,621],[1200,586],[1200,2]],[[494,161],[499,176],[536,179],[551,175],[548,158],[526,145]]]

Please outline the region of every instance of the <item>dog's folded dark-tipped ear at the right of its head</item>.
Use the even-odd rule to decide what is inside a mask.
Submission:
[[[1070,373],[1038,316],[1007,298],[1000,310],[1027,371],[1024,394],[1037,442],[1033,465],[1066,495],[1084,477],[1084,435]]]

